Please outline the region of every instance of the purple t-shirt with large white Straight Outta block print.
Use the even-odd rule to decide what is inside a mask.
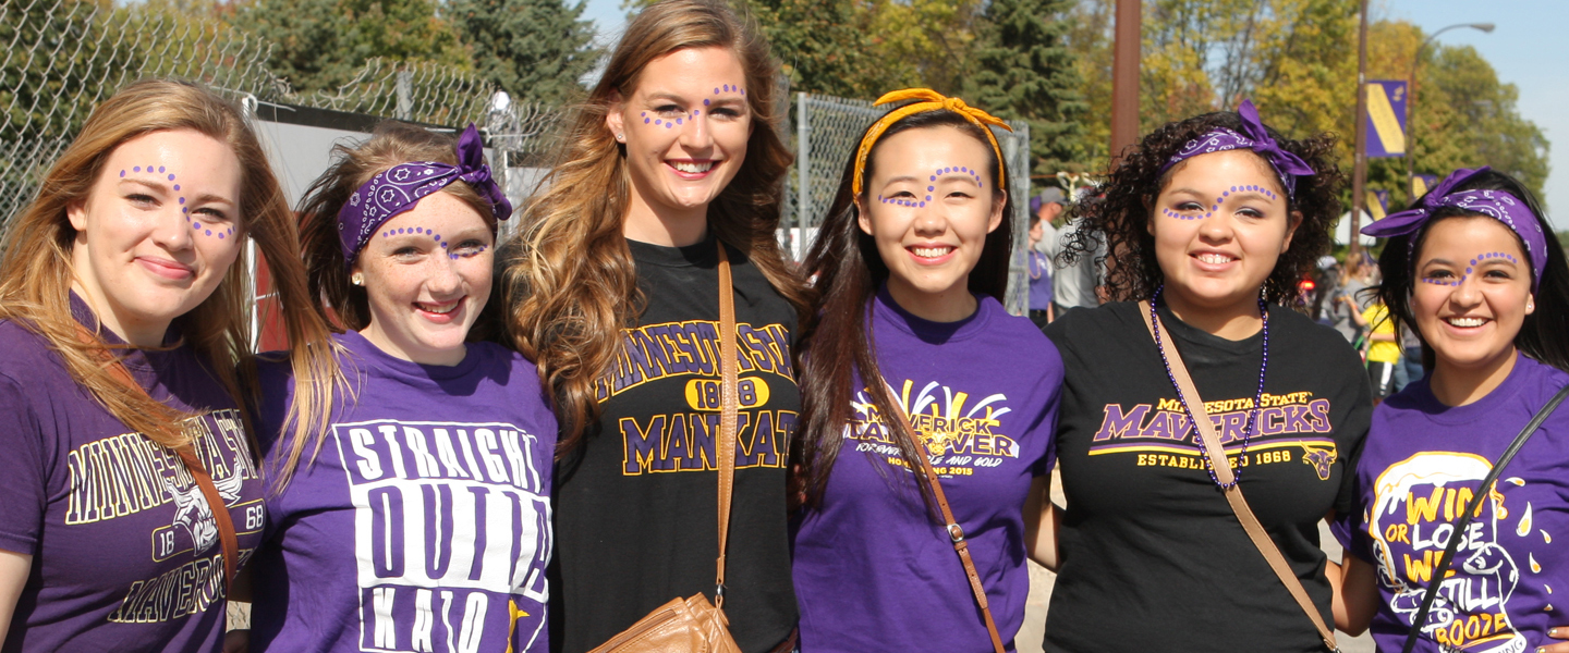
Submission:
[[[339,401],[268,493],[251,647],[278,651],[546,651],[555,417],[533,363],[469,343],[457,366],[337,335]],[[293,381],[262,368],[264,470],[287,460]]]

